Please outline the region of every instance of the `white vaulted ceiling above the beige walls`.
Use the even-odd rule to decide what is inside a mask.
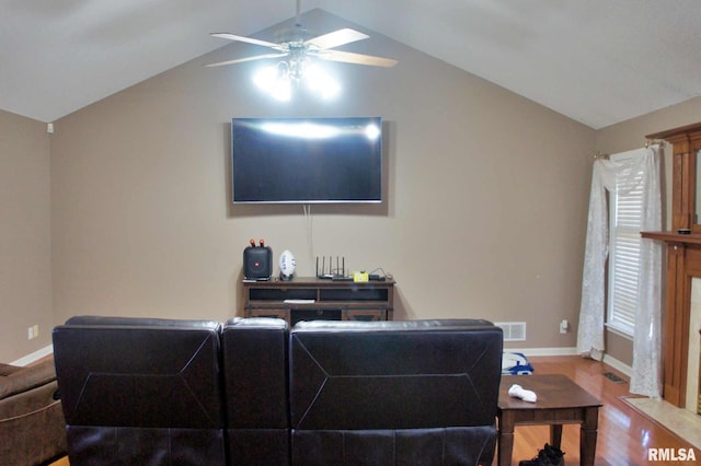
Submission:
[[[302,0],[301,7],[321,8],[593,128],[701,95],[699,0]],[[210,32],[251,35],[292,18],[295,8],[295,0],[0,0],[0,109],[53,121],[228,45]]]

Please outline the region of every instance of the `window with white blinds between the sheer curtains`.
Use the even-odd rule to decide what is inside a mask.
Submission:
[[[633,155],[634,156],[634,155]],[[630,154],[611,155],[622,162]],[[637,272],[643,215],[643,171],[640,164],[616,175],[609,196],[609,275],[607,325],[633,336],[637,302]],[[632,172],[636,171],[636,172]]]

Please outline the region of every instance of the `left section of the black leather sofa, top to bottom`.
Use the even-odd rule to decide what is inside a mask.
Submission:
[[[56,327],[71,466],[225,464],[220,327],[96,316]]]

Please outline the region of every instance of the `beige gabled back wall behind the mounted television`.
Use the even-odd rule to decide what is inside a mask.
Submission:
[[[331,19],[331,30],[346,23]],[[277,104],[252,66],[203,65],[231,45],[56,123],[54,310],[226,319],[250,237],[398,281],[397,318],[525,321],[520,347],[573,347],[595,131],[395,42],[366,46],[393,69],[337,66],[332,104]],[[382,207],[232,207],[229,123],[240,116],[379,115]],[[309,231],[311,224],[311,233]],[[308,247],[313,240],[313,251]]]

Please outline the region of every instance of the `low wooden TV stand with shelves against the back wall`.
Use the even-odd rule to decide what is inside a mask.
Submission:
[[[299,321],[391,321],[394,281],[354,282],[313,277],[243,281],[245,317]]]

